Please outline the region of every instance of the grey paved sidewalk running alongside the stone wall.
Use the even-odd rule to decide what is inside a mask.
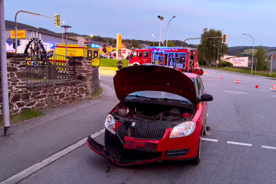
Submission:
[[[103,94],[104,95],[104,94]],[[118,101],[101,98],[46,111],[46,116],[10,128],[0,140],[0,182],[103,128]]]

